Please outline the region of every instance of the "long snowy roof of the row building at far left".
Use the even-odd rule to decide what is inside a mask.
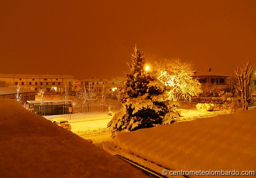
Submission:
[[[44,78],[58,78],[58,79],[74,79],[72,75],[48,75],[48,74],[2,74],[0,73],[0,78],[23,78],[23,79],[44,79]]]

